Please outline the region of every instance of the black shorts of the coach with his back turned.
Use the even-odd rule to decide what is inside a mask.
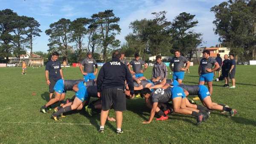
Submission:
[[[109,110],[113,104],[115,111],[126,110],[126,98],[123,89],[120,88],[108,88],[102,89],[102,110]]]

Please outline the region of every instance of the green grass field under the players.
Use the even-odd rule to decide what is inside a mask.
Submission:
[[[198,66],[185,74],[185,84],[198,84]],[[116,124],[107,122],[105,133],[99,134],[99,115],[89,117],[82,111],[67,114],[54,121],[51,113],[39,112],[48,99],[44,68],[0,68],[0,144],[6,143],[250,143],[256,141],[256,66],[237,66],[236,89],[213,82],[212,100],[238,110],[233,118],[214,111],[207,122],[195,125],[189,115],[172,114],[166,121],[144,125],[150,110],[144,99],[127,100],[124,112],[124,133],[116,135]],[[151,67],[145,72],[151,76]],[[168,76],[172,78],[172,75]],[[79,68],[64,70],[64,78],[79,79]],[[32,93],[35,92],[35,95]],[[67,92],[71,98],[74,92]],[[197,101],[198,102],[198,101]],[[201,104],[200,102],[198,102]],[[114,116],[113,110],[110,113]]]

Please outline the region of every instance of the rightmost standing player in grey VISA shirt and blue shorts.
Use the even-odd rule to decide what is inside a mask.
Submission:
[[[220,66],[214,58],[210,57],[209,50],[204,50],[203,56],[204,58],[201,59],[198,66],[198,75],[200,76],[199,85],[204,85],[204,83],[207,82],[210,95],[212,95],[213,72],[215,72]],[[214,68],[212,69],[213,66]]]

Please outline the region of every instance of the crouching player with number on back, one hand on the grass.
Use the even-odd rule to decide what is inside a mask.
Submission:
[[[174,112],[195,116],[197,118],[197,124],[201,124],[201,122],[207,118],[207,115],[199,112],[198,109],[191,110],[181,108],[186,107],[186,101],[184,100],[186,95],[184,94],[183,89],[178,86],[169,87],[167,89],[157,89],[154,92],[151,92],[151,90],[148,88],[144,88],[141,91],[141,95],[143,95],[144,98],[151,98],[153,103],[150,112],[150,118],[148,121],[143,121],[143,124],[151,123],[154,118],[158,103],[168,103],[169,101],[172,101]]]

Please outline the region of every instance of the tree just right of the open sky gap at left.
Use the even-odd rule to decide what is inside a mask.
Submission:
[[[50,29],[45,31],[46,35],[49,35],[49,50],[58,50],[61,51],[61,54],[67,57],[68,52],[73,49],[72,46],[68,44],[72,41],[72,31],[70,29],[71,21],[65,18],[58,20],[55,23],[50,24]]]

